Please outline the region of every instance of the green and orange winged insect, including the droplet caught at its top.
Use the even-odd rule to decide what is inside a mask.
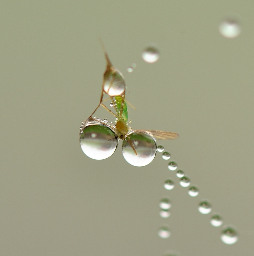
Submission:
[[[101,43],[102,44],[102,43]],[[152,136],[155,139],[176,139],[179,137],[178,133],[172,133],[172,132],[165,132],[165,131],[158,131],[158,130],[134,130],[131,127],[128,126],[128,107],[127,107],[127,101],[125,100],[125,81],[122,73],[117,70],[112,63],[109,60],[109,57],[107,55],[107,52],[105,51],[105,48],[102,44],[102,48],[104,51],[104,55],[107,62],[107,67],[104,72],[103,77],[103,83],[102,83],[102,92],[101,92],[101,98],[100,103],[95,108],[89,119],[93,119],[92,115],[97,111],[97,109],[102,106],[105,108],[108,112],[110,112],[112,115],[116,117],[116,125],[110,125],[107,123],[107,126],[110,127],[111,130],[113,130],[115,134],[115,138],[119,138],[122,140],[127,141],[130,146],[132,147],[133,151],[135,152],[135,155],[138,155],[135,145],[133,144],[132,140],[129,137],[129,133],[138,133],[140,135],[147,134],[149,136]],[[103,99],[104,95],[108,94],[110,99],[112,100],[114,109],[116,111],[116,114],[113,113],[110,109],[108,109],[103,102],[107,99]],[[95,119],[96,120],[96,119]],[[97,120],[98,121],[98,120]],[[100,121],[99,121],[100,122]],[[102,123],[102,122],[101,122]],[[105,125],[105,123],[103,123]]]

